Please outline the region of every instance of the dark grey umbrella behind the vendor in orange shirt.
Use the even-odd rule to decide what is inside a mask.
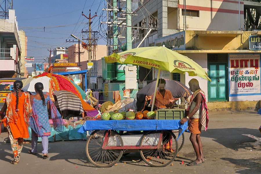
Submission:
[[[191,90],[184,84],[180,83],[179,81],[175,80],[166,80],[166,87],[165,89],[170,90],[171,94],[174,99],[178,99],[180,97],[188,98],[192,95]],[[154,93],[156,81],[149,83],[148,85],[144,86],[139,92],[137,92],[137,110],[142,111],[145,106],[146,97],[150,97]]]

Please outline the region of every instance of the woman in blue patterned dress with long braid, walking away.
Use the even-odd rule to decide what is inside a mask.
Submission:
[[[32,149],[28,151],[30,154],[37,153],[38,137],[42,138],[42,146],[44,154],[43,159],[48,158],[48,136],[51,135],[49,115],[52,117],[54,128],[62,132],[63,121],[61,115],[52,103],[50,97],[43,93],[44,85],[41,82],[35,84],[36,95],[30,96],[32,104],[32,116],[30,117],[29,124],[32,130]]]

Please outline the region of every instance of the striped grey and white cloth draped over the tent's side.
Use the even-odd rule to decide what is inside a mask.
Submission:
[[[60,110],[76,110],[84,112],[81,100],[74,93],[66,90],[55,90],[53,94],[56,96]]]

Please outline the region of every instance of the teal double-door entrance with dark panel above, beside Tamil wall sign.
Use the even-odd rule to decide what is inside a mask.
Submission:
[[[228,98],[228,54],[208,54],[208,101],[221,102]]]

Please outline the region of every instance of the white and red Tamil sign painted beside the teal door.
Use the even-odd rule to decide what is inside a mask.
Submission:
[[[260,54],[229,54],[229,97],[261,95]]]

